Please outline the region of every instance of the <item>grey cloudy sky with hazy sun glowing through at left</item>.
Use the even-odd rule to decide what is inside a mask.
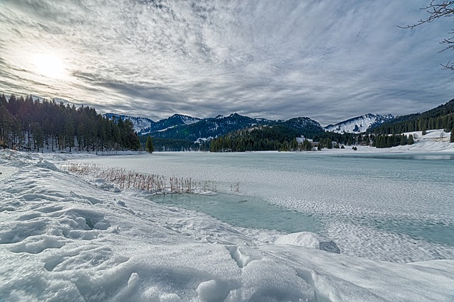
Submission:
[[[159,120],[425,111],[454,97],[429,0],[1,0],[0,91]]]

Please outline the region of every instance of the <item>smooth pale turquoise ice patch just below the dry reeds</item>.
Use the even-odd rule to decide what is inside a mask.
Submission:
[[[236,194],[165,194],[151,196],[155,203],[177,206],[206,213],[225,223],[242,228],[279,230],[288,233],[319,233],[322,225],[318,216],[274,206],[260,198]]]

